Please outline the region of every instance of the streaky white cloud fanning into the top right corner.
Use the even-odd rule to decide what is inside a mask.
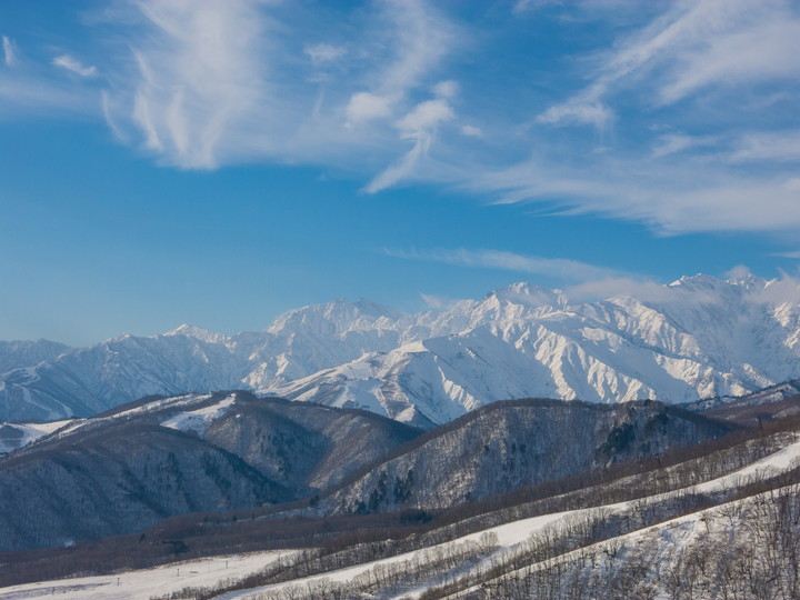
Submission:
[[[608,98],[633,83],[653,90],[653,103],[670,104],[711,86],[796,79],[800,20],[787,3],[700,0],[671,7],[599,54],[592,82],[538,121],[606,127],[613,114]]]

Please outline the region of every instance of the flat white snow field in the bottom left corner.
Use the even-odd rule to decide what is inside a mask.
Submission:
[[[109,576],[24,583],[0,588],[0,599],[19,600],[58,596],[80,600],[147,600],[186,587],[213,586],[226,579],[240,579],[263,569],[279,557],[291,553],[284,551],[221,556]]]

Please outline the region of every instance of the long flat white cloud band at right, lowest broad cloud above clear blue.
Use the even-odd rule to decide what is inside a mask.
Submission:
[[[531,159],[478,173],[467,187],[493,193],[497,203],[556,203],[568,213],[640,221],[664,234],[800,227],[794,178],[733,173],[712,163],[657,166],[609,157],[572,167]]]

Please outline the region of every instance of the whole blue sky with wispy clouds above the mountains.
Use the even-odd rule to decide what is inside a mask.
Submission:
[[[800,6],[0,2],[0,339],[797,278]]]

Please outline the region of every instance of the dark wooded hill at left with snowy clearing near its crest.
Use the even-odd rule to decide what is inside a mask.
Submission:
[[[306,498],[419,433],[248,392],[144,399],[0,458],[0,550]]]

